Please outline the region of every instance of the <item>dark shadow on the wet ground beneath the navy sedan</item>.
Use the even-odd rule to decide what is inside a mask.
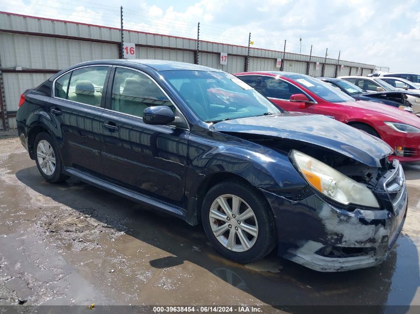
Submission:
[[[88,210],[92,218],[168,252],[167,257],[150,260],[152,267],[162,269],[192,262],[286,312],[308,313],[306,306],[321,306],[311,308],[311,313],[326,313],[324,306],[353,305],[360,306],[348,308],[355,313],[406,313],[419,287],[418,250],[408,236],[400,236],[385,262],[368,269],[321,273],[280,258],[275,251],[261,261],[242,265],[218,254],[201,225],[190,226],[169,215],[146,210],[143,205],[75,179],[49,184],[35,166],[18,171],[16,177],[42,195],[81,213]],[[129,222],[123,228],[120,221],[124,218]]]

